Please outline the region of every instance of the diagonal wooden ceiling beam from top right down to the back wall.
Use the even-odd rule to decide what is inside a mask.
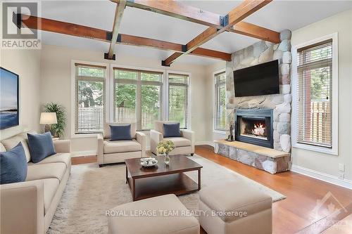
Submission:
[[[272,0],[243,1],[241,4],[239,4],[239,6],[235,7],[234,9],[232,9],[232,11],[227,14],[228,23],[225,23],[224,27],[222,27],[220,30],[216,29],[215,27],[208,27],[208,29],[204,30],[201,34],[199,34],[197,37],[187,43],[187,50],[184,51],[184,53],[173,53],[171,56],[163,60],[162,64],[165,66],[170,66],[171,63],[175,62],[175,60],[177,60],[181,56],[191,53],[191,51],[194,51],[194,49],[205,44],[207,41],[210,41],[218,34],[229,30],[238,22],[241,22],[241,20],[244,20],[244,18],[258,11],[260,8],[269,4],[271,1]]]

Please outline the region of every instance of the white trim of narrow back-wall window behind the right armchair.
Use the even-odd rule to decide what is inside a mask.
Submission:
[[[166,77],[165,77],[165,118],[169,120],[169,74],[184,74],[188,76],[188,104],[187,104],[187,129],[191,130],[191,73],[190,72],[180,72],[180,71],[174,71],[174,70],[165,70],[166,72]]]

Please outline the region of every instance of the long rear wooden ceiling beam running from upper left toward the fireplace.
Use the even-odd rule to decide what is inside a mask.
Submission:
[[[18,15],[13,13],[13,22],[18,27],[28,27],[33,30],[43,30],[46,32],[55,32],[75,37],[83,37],[88,39],[95,39],[111,43],[111,32],[100,30],[93,27],[83,25],[76,25],[70,22],[62,22],[58,20],[50,20],[46,18],[38,18],[32,15],[20,15],[20,22],[17,22]],[[39,22],[39,23],[38,23]],[[115,44],[123,44],[130,46],[144,46],[150,48],[158,48],[165,51],[182,52],[182,44],[172,43],[168,41],[161,41],[150,39],[146,37],[137,37],[127,34],[118,34]],[[225,61],[231,60],[231,53],[221,51],[213,51],[208,48],[198,48],[192,51],[191,55],[203,56],[208,58],[215,58]]]

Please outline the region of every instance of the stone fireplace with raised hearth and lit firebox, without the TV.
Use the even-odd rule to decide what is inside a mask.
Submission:
[[[227,129],[234,123],[236,141],[215,141],[215,152],[272,174],[289,170],[291,157],[291,32],[281,42],[256,44],[232,53],[226,63]],[[279,60],[278,94],[237,97],[234,70]]]

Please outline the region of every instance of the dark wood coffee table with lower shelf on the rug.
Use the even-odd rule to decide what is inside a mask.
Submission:
[[[202,166],[184,155],[170,156],[170,164],[164,164],[164,157],[156,157],[155,167],[142,167],[141,159],[125,160],[126,183],[130,186],[132,200],[142,200],[173,193],[182,195],[201,189]],[[198,183],[184,174],[198,171]]]

